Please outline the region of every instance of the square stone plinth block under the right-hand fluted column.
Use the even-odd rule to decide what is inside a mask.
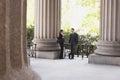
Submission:
[[[91,54],[88,58],[88,63],[120,66],[120,57]]]

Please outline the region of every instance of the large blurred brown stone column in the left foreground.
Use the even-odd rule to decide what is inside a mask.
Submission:
[[[26,52],[26,0],[0,0],[0,80],[40,80]]]

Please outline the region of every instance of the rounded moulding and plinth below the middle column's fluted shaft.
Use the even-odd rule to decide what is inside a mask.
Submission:
[[[36,57],[43,59],[58,59],[60,55],[60,46],[56,39],[34,39],[36,46]]]

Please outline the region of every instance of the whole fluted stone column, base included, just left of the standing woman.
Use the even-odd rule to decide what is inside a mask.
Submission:
[[[60,30],[61,0],[35,0],[34,44],[37,57],[55,59],[59,56],[56,37]]]

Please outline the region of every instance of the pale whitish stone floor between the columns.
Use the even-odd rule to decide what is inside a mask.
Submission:
[[[87,58],[30,60],[42,80],[120,80],[119,66],[88,64]]]

